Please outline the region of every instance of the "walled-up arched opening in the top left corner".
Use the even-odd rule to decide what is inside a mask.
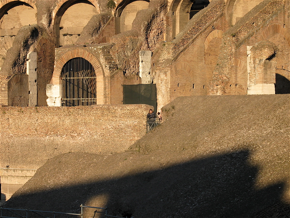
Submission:
[[[22,1],[13,1],[0,12],[0,67],[6,59],[6,52],[12,47],[14,37],[22,26],[36,24],[36,10]]]

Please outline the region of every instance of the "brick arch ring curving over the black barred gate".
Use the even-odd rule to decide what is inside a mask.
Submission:
[[[52,84],[59,84],[59,77],[62,71],[62,67],[63,65],[65,65],[66,62],[68,62],[72,58],[86,59],[94,67],[96,76],[103,78],[104,73],[103,73],[100,61],[92,53],[88,52],[85,49],[74,49],[74,50],[66,52],[55,63],[54,72],[52,75]]]

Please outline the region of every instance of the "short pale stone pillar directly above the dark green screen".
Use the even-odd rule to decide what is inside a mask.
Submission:
[[[151,56],[151,51],[139,51],[139,76],[142,79],[142,84],[152,84]]]

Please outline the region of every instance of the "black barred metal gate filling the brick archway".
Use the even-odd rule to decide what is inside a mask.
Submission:
[[[97,103],[94,67],[84,58],[73,58],[62,67],[62,106],[88,106]]]

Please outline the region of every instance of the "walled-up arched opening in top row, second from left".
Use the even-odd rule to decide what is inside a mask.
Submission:
[[[84,26],[98,13],[97,8],[86,0],[65,2],[58,10],[54,21],[59,46],[74,44]]]

